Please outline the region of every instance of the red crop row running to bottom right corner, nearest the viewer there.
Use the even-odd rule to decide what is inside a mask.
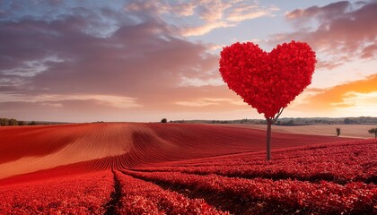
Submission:
[[[215,175],[197,176],[179,172],[130,170],[124,170],[124,172],[155,183],[184,187],[200,193],[225,196],[224,198],[232,196],[232,199],[237,198],[242,202],[249,202],[243,205],[243,208],[258,205],[259,208],[250,208],[255,213],[301,211],[315,214],[373,214],[377,212],[375,207],[377,186],[372,184],[338,185],[325,181],[312,184],[295,180],[273,181],[260,178],[250,180]]]

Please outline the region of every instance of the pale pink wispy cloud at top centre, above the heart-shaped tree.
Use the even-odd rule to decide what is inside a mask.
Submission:
[[[236,26],[240,22],[272,15],[278,8],[262,8],[257,2],[246,0],[217,1],[194,0],[189,2],[137,1],[126,4],[127,12],[144,13],[154,19],[163,20],[169,16],[189,22],[181,22],[174,27],[181,36],[200,36],[219,29]],[[185,20],[186,21],[186,20]],[[190,24],[191,22],[195,24]]]

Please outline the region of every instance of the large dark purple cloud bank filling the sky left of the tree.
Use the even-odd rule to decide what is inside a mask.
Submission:
[[[125,109],[175,111],[182,108],[181,100],[218,98],[224,86],[212,92],[181,86],[185,78],[217,77],[218,56],[208,54],[205,44],[180,38],[173,26],[155,17],[152,12],[75,7],[48,19],[0,19],[0,92],[7,95],[0,100],[3,114],[22,118],[29,109],[31,116],[46,113],[59,119],[67,111],[89,118]],[[92,95],[130,98],[136,106],[114,107]]]

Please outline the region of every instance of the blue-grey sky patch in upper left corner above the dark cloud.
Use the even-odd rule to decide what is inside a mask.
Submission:
[[[121,20],[116,20],[101,13],[102,9],[110,9],[116,13],[124,12],[125,1],[1,1],[0,2],[0,21],[21,20],[25,17],[34,20],[52,21],[64,15],[89,16],[95,13],[100,19],[97,21],[89,20],[92,25],[87,26],[85,31],[97,37],[108,37],[112,32],[118,30]],[[85,10],[88,11],[85,11]]]

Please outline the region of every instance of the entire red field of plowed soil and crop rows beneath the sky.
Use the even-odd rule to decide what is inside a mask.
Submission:
[[[250,127],[0,127],[0,214],[376,214],[377,143]]]

